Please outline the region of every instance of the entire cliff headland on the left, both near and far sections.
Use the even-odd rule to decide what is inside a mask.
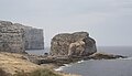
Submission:
[[[44,37],[42,29],[0,21],[0,51],[21,53],[25,50],[43,48]]]

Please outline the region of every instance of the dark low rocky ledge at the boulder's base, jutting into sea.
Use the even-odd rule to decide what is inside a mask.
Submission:
[[[51,56],[51,55],[26,55],[26,59],[37,65],[52,64],[53,68],[65,66],[65,64],[77,63],[79,61],[89,59],[117,59],[117,58],[128,58],[128,56],[113,55],[107,53],[95,53],[89,56]]]

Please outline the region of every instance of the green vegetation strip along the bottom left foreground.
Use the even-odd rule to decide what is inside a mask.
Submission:
[[[61,75],[55,74],[54,72],[50,69],[43,68],[43,69],[36,69],[31,73],[24,73],[23,70],[16,72],[16,74],[14,75],[9,75],[4,70],[0,69],[0,76],[61,76]]]

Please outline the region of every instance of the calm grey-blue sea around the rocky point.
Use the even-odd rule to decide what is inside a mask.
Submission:
[[[29,53],[41,55],[48,52],[50,48],[46,47],[42,51],[30,51]],[[118,59],[79,61],[77,63],[65,64],[65,66],[55,68],[55,70],[63,70],[81,76],[132,76],[132,46],[98,46],[98,52],[129,57]]]

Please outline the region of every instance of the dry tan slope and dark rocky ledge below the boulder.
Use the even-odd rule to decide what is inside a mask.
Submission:
[[[77,63],[79,61],[89,59],[116,59],[116,58],[127,58],[122,55],[113,55],[106,53],[96,53],[89,57],[53,57],[51,55],[30,55],[30,54],[16,54],[0,52],[0,68],[4,69],[7,73],[15,74],[15,72],[32,72],[37,68],[48,68],[54,72],[54,68],[65,66],[65,64]],[[63,74],[62,76],[78,76],[68,75],[64,72],[55,72],[57,74]]]

